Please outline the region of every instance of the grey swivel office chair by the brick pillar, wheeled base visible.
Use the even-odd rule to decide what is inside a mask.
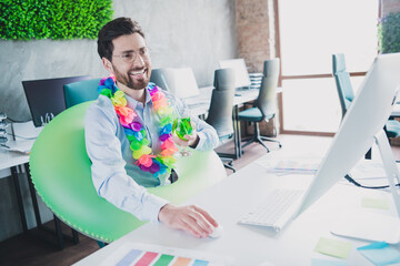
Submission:
[[[253,124],[254,133],[244,143],[244,146],[250,143],[258,142],[263,147],[267,149],[267,152],[270,150],[263,143],[263,141],[276,142],[279,144],[279,147],[282,147],[282,144],[278,140],[270,137],[261,136],[259,124],[262,121],[269,121],[276,115],[276,101],[277,101],[277,86],[279,79],[279,59],[267,60],[263,63],[263,76],[261,82],[261,88],[259,95],[254,102],[254,106],[239,112],[239,121],[246,121]]]

